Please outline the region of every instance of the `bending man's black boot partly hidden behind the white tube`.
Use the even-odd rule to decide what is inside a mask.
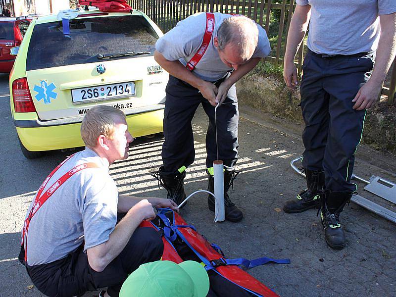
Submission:
[[[209,175],[209,183],[207,186],[207,190],[214,194],[214,177],[206,170],[206,173]],[[235,206],[233,202],[231,202],[230,197],[227,194],[230,186],[233,185],[234,179],[237,177],[239,172],[235,170],[225,170],[224,171],[224,215],[225,219],[230,222],[239,222],[244,217],[242,211]],[[234,187],[234,185],[233,185]],[[233,188],[234,190],[234,188]],[[211,211],[214,211],[214,197],[211,195],[207,196],[207,204]]]

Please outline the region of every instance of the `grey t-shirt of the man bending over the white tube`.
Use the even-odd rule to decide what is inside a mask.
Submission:
[[[220,12],[214,13],[214,30],[211,42],[193,70],[195,75],[205,81],[213,82],[219,80],[232,69],[221,61],[219,53],[213,44],[213,38],[217,36],[218,28],[223,20],[229,17],[232,17],[232,15]],[[257,25],[257,27],[258,44],[253,54],[254,58],[265,57],[271,50],[265,30],[260,25]],[[187,62],[191,60],[201,46],[205,29],[205,12],[195,13],[178,22],[176,27],[158,39],[155,49],[167,60],[179,60],[186,66]]]

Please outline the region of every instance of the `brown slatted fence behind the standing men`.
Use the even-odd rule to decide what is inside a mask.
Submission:
[[[128,0],[128,3],[146,13],[164,33],[176,26],[178,21],[200,11],[246,15],[267,32],[272,51],[265,60],[276,67],[283,64],[287,34],[296,7],[295,0]],[[298,71],[301,71],[304,50],[305,42],[296,55]],[[395,101],[395,61],[389,73],[390,80],[387,80],[389,87],[382,88],[382,94],[388,96],[389,104]]]

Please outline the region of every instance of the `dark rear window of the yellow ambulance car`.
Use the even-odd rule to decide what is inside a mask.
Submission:
[[[138,15],[76,18],[69,27],[70,34],[65,35],[62,21],[36,25],[26,70],[98,62],[98,54],[148,51],[146,55],[153,55],[158,39],[148,21]]]

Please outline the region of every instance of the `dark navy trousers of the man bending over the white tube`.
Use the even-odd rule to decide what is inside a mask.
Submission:
[[[215,83],[218,87],[221,81]],[[175,172],[182,166],[194,162],[195,149],[191,121],[198,105],[202,104],[209,117],[206,132],[206,167],[213,167],[217,159],[214,107],[198,93],[198,89],[169,76],[166,86],[164,111],[164,136],[162,161],[165,172]],[[217,138],[219,159],[224,165],[233,167],[238,159],[238,100],[235,84],[227,98],[217,108]]]

